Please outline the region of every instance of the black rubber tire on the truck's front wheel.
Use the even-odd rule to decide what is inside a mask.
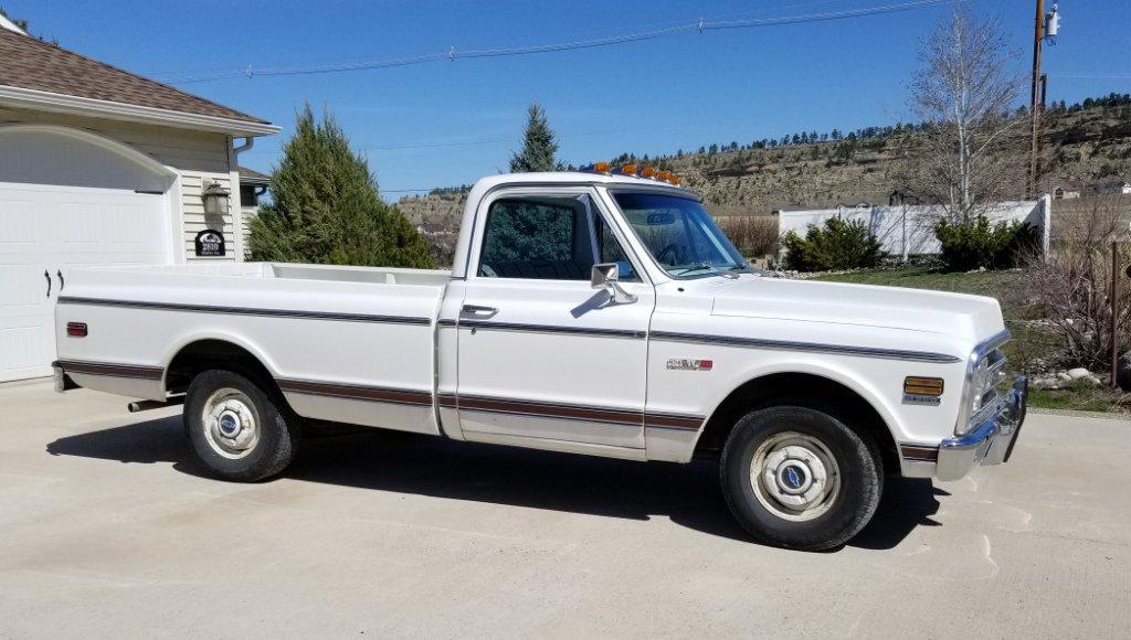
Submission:
[[[771,490],[766,485],[756,488],[756,481],[751,479],[751,461],[756,453],[774,447],[775,442],[783,447],[797,442],[791,440],[794,435],[787,435],[791,433],[809,439],[802,440],[803,443],[815,440],[819,446],[813,448],[820,450],[821,456],[831,457],[838,469],[835,495],[827,502],[817,502],[818,507],[808,514],[791,511],[775,500]],[[777,468],[787,466],[789,464],[782,464]],[[762,473],[758,477],[765,477],[767,467],[774,468],[760,465]],[[801,474],[791,474],[787,482],[801,484],[797,477],[804,479],[806,469],[809,467],[800,469]],[[831,473],[826,475],[834,476]],[[731,512],[754,539],[785,548],[821,551],[845,544],[872,519],[880,504],[883,462],[870,435],[853,431],[832,415],[804,406],[777,406],[750,412],[735,423],[723,449],[719,478]],[[832,485],[827,482],[823,486]],[[780,513],[811,519],[788,519]]]

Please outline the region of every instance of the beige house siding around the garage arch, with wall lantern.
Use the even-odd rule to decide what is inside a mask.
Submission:
[[[235,167],[228,153],[232,139],[223,133],[192,131],[171,127],[120,122],[98,118],[14,110],[0,106],[0,124],[36,123],[59,124],[85,129],[128,145],[138,152],[169,166],[179,174],[180,210],[183,242],[182,256],[185,261],[242,260],[241,239],[236,239],[236,220],[240,211],[240,189],[233,184]],[[232,194],[228,197],[228,213],[223,216],[205,216],[202,185],[216,181]],[[239,216],[239,217],[238,217]],[[242,225],[241,225],[242,226]],[[227,240],[227,257],[197,258],[193,242],[196,234],[205,228],[223,228]],[[175,250],[176,248],[174,248]]]

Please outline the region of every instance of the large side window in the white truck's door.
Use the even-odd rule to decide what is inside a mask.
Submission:
[[[593,267],[588,207],[578,198],[503,198],[491,204],[478,275],[586,280]]]

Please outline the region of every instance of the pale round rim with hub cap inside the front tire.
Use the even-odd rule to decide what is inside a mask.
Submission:
[[[775,516],[811,520],[836,501],[840,470],[820,440],[789,431],[768,438],[754,451],[750,485],[762,507]]]

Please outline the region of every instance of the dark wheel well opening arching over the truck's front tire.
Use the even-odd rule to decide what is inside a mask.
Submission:
[[[707,421],[696,457],[718,459],[734,423],[748,412],[782,405],[811,406],[831,413],[849,427],[867,433],[883,455],[886,469],[899,468],[896,441],[875,408],[844,384],[811,373],[775,373],[751,380],[726,397]]]

